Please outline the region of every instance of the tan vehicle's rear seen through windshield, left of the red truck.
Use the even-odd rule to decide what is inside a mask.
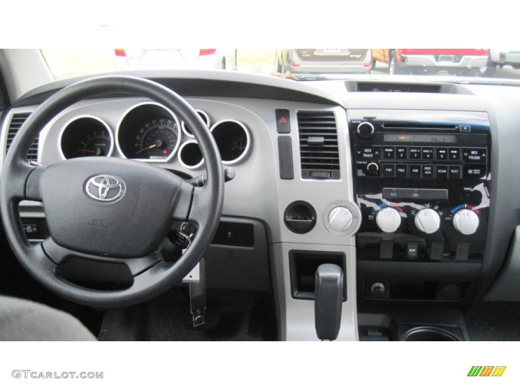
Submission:
[[[370,49],[278,49],[277,71],[293,74],[370,73]]]

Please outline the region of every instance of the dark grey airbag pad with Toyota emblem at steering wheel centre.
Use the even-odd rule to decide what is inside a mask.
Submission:
[[[121,183],[116,183],[121,187],[110,190],[108,185],[88,185],[97,176],[106,177],[105,181],[119,179]],[[183,179],[159,167],[114,157],[52,164],[46,168],[41,183],[47,225],[58,245],[120,258],[142,257],[158,248],[172,226],[181,188],[192,191]],[[106,201],[102,199],[103,191],[108,196],[111,191],[121,192],[121,196]],[[180,206],[188,211],[189,205]]]

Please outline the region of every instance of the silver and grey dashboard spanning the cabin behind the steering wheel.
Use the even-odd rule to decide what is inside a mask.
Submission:
[[[209,285],[272,291],[281,340],[316,340],[314,274],[324,263],[345,275],[339,340],[359,340],[362,327],[375,326],[365,312],[520,300],[520,259],[508,252],[520,218],[517,87],[135,75],[183,96],[210,129],[224,166],[235,169],[207,255],[214,260]],[[12,105],[3,150],[68,83]],[[103,155],[185,178],[204,173],[197,140],[177,113],[137,96],[77,102],[33,147],[29,158],[42,164]],[[20,210],[27,237],[45,238],[44,207],[24,201]]]

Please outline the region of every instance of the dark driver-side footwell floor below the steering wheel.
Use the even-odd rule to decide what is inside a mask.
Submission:
[[[274,309],[263,294],[209,291],[208,302],[206,324],[197,328],[191,323],[185,290],[175,289],[143,304],[110,309],[103,318],[99,340],[274,340]]]

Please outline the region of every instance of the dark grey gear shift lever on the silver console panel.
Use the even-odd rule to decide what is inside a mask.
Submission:
[[[336,340],[341,326],[343,270],[335,264],[322,264],[316,270],[314,320],[320,340]]]

